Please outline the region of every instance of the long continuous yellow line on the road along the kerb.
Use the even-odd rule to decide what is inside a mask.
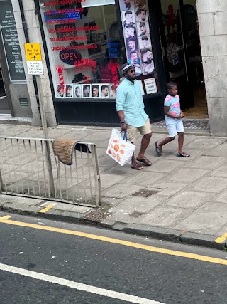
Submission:
[[[115,244],[122,245],[122,246],[128,246],[128,247],[138,248],[138,249],[142,249],[142,250],[168,254],[170,256],[180,256],[182,258],[192,258],[194,260],[199,260],[199,261],[204,261],[204,262],[209,262],[209,263],[216,263],[216,264],[221,264],[221,265],[227,265],[227,261],[223,260],[221,258],[212,258],[211,256],[200,256],[199,254],[195,254],[195,253],[188,253],[188,252],[183,252],[183,251],[175,251],[175,250],[170,250],[170,249],[165,249],[165,248],[148,246],[148,245],[143,245],[141,243],[133,243],[130,241],[112,239],[107,236],[98,236],[96,234],[87,234],[85,232],[80,232],[80,231],[60,229],[60,228],[50,227],[50,226],[41,226],[38,224],[24,223],[23,221],[12,221],[10,219],[4,219],[4,218],[0,218],[0,223],[11,224],[11,225],[15,225],[15,226],[22,226],[22,227],[29,227],[29,228],[40,229],[40,230],[45,230],[45,231],[53,231],[53,232],[57,232],[60,234],[71,234],[73,236],[82,236],[87,239],[94,239],[97,241],[115,243]]]

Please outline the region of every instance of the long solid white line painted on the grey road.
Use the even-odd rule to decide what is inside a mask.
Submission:
[[[44,273],[37,273],[35,271],[27,271],[23,268],[13,267],[6,264],[0,263],[0,271],[8,271],[9,273],[16,273],[21,276],[28,276],[29,278],[35,278],[37,280],[47,281],[49,283],[55,283],[59,285],[64,285],[70,288],[74,288],[77,290],[82,290],[87,293],[95,293],[96,295],[103,295],[105,297],[124,300],[129,303],[137,303],[137,304],[164,304],[160,302],[156,302],[153,300],[140,298],[135,295],[127,295],[126,293],[118,293],[116,291],[94,287],[91,285],[86,285],[82,283],[77,283],[74,281],[65,280],[65,278],[57,278],[56,276],[49,276]]]

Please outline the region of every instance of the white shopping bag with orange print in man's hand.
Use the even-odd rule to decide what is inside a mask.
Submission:
[[[121,166],[127,163],[131,164],[131,158],[135,151],[135,145],[127,141],[126,136],[126,132],[124,137],[122,137],[120,131],[113,129],[106,150],[106,154],[116,160]]]

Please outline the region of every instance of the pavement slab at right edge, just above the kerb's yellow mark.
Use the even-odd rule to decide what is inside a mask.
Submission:
[[[208,201],[174,228],[199,234],[216,234],[227,224],[226,214],[227,204]]]

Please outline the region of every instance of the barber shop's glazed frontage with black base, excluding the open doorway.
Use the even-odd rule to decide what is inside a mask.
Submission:
[[[135,64],[151,120],[163,117],[165,70],[156,4],[35,0],[59,124],[118,125],[116,88]]]

